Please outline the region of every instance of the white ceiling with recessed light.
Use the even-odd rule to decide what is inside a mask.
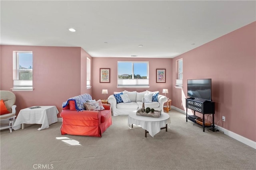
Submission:
[[[1,45],[82,47],[92,57],[173,58],[256,21],[255,0],[1,0],[0,10]]]

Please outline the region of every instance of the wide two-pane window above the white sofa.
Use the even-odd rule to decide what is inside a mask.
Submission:
[[[118,61],[118,87],[149,87],[148,62]]]

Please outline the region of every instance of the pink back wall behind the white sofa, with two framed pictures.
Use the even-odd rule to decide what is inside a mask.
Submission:
[[[117,62],[118,61],[149,61],[149,85],[150,88],[117,88]],[[102,89],[108,89],[108,95],[113,92],[137,91],[143,92],[159,91],[162,94],[163,88],[167,88],[169,93],[168,98],[172,96],[172,59],[153,59],[153,58],[92,58],[92,96],[96,100],[104,99],[104,94],[101,94]],[[100,83],[100,68],[110,68],[110,83]],[[156,83],[156,68],[166,68],[166,83]],[[164,94],[163,94],[164,95]]]

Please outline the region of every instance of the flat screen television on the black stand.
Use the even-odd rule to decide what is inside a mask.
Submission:
[[[212,79],[189,79],[188,97],[212,101]]]

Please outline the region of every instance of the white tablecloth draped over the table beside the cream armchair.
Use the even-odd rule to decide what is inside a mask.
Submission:
[[[26,124],[42,124],[38,130],[49,128],[49,125],[58,121],[57,114],[59,113],[56,106],[40,106],[36,109],[21,109],[12,129],[20,129],[22,123]]]

